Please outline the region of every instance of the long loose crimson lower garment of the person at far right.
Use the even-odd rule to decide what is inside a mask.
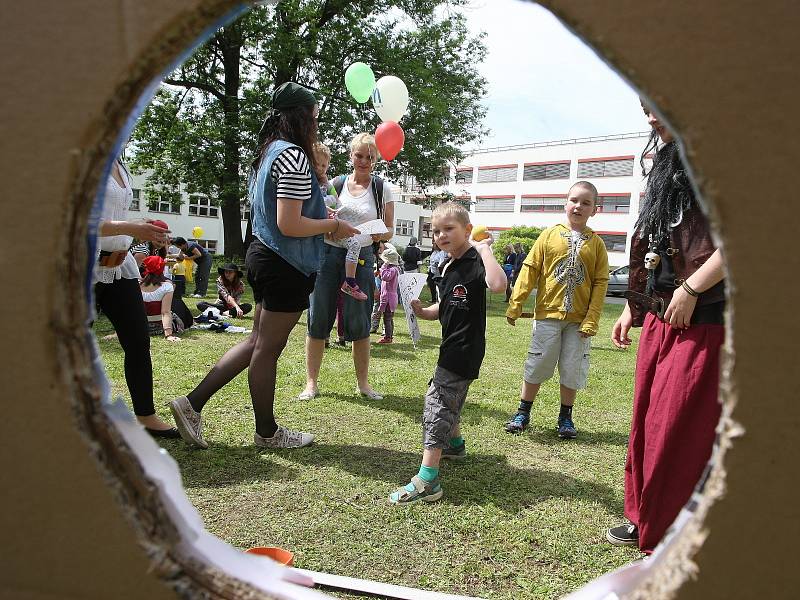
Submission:
[[[689,500],[714,444],[723,325],[672,329],[645,317],[625,461],[625,516],[650,553]]]

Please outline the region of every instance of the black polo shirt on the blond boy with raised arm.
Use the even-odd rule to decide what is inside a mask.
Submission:
[[[445,268],[446,267],[446,268]],[[486,353],[486,269],[475,248],[441,266],[439,366],[464,379],[477,379]]]

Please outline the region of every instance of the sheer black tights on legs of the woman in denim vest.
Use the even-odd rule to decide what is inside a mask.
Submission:
[[[247,381],[256,418],[256,433],[272,437],[278,429],[273,412],[278,358],[301,314],[272,312],[256,305],[253,333],[228,350],[203,381],[187,394],[192,408],[197,412],[203,410],[211,396],[248,369]]]

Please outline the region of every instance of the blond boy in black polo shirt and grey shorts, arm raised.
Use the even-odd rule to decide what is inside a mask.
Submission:
[[[389,495],[393,504],[441,498],[439,462],[466,455],[459,421],[486,351],[486,288],[495,293],[506,289],[506,274],[492,254],[491,236],[470,239],[472,225],[463,206],[454,202],[437,206],[431,224],[436,245],[450,259],[440,266],[441,276],[436,278],[439,302],[423,308],[419,300],[413,300],[411,307],[420,319],[441,321],[442,343],[425,395],[422,466],[410,483]]]

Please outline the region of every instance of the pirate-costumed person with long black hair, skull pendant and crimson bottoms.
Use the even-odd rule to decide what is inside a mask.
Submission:
[[[672,133],[643,106],[653,155],[631,239],[628,302],[612,341],[627,348],[642,327],[636,359],[625,516],[608,530],[616,545],[649,554],[700,480],[720,417],[717,399],[724,337],[722,254],[689,183]],[[660,140],[660,142],[659,142]]]

